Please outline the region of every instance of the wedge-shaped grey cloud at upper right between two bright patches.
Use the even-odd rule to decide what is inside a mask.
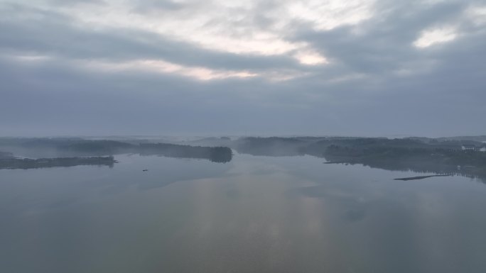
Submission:
[[[385,2],[382,5],[389,4]],[[329,31],[304,30],[296,40],[304,40],[319,48],[350,72],[381,74],[399,69],[403,62],[427,56],[413,47],[421,30],[449,18],[456,18],[467,6],[463,3],[446,3],[429,6],[398,4],[386,13],[379,13],[363,23],[355,34],[355,27],[343,26]]]

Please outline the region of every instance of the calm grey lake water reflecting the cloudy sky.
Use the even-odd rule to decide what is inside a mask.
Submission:
[[[0,272],[486,272],[477,179],[311,156],[115,160],[0,169]]]

